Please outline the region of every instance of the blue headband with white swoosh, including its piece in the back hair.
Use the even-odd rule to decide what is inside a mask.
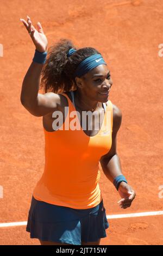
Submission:
[[[71,56],[74,52],[76,52],[76,50],[74,50],[73,48],[71,48],[68,52],[69,56]],[[77,70],[74,74],[74,76],[78,76],[81,77],[83,75],[85,75],[89,70],[96,68],[96,66],[98,65],[107,65],[102,57],[101,54],[93,54],[90,57],[87,57],[86,59],[83,60],[83,62],[81,62],[78,67]]]

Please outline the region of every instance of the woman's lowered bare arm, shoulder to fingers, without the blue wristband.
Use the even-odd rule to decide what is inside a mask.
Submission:
[[[122,175],[120,157],[116,151],[117,145],[117,132],[120,129],[122,123],[122,112],[121,110],[113,105],[113,125],[112,125],[112,144],[108,154],[103,155],[99,160],[105,176],[113,182],[114,179]],[[120,207],[123,209],[128,208],[131,202],[136,196],[135,191],[124,181],[120,182],[118,186],[118,192],[121,196]]]

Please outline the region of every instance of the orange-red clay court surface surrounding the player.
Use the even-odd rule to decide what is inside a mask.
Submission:
[[[117,153],[122,172],[136,191],[130,208],[121,209],[120,196],[101,172],[107,215],[162,211],[162,0],[1,0],[0,57],[1,155],[0,223],[27,221],[30,200],[44,168],[42,117],[21,105],[24,75],[35,47],[20,18],[40,21],[48,47],[60,38],[77,47],[95,47],[111,71],[110,100],[123,114]],[[64,153],[63,153],[64,157]],[[163,194],[163,193],[162,193]],[[163,216],[109,220],[101,245],[162,245]],[[39,245],[26,225],[0,228],[1,245]]]

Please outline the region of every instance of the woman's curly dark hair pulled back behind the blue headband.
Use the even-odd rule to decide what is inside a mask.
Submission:
[[[77,89],[74,72],[77,66],[87,57],[98,53],[95,48],[85,47],[67,57],[68,51],[77,48],[71,40],[60,39],[57,44],[49,47],[45,65],[41,72],[40,88],[47,92],[62,93]]]

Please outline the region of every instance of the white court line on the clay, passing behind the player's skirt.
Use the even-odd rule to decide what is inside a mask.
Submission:
[[[107,219],[111,220],[114,218],[131,218],[131,217],[156,216],[156,215],[163,215],[163,211],[136,212],[134,214],[115,214],[115,215],[106,215],[106,217]],[[23,225],[27,225],[27,221],[0,223],[0,228],[17,227],[17,226],[23,226]]]

